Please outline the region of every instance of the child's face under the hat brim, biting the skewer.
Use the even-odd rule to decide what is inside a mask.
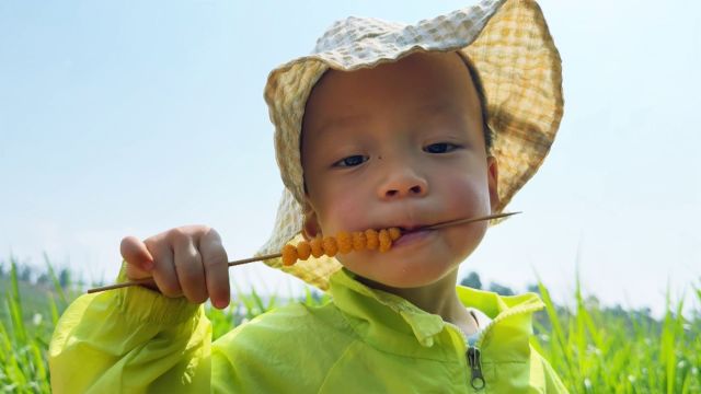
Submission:
[[[311,236],[319,230],[335,235],[480,217],[498,198],[480,101],[455,53],[327,72],[307,102],[302,166],[312,210],[304,229]],[[455,271],[486,225],[416,232],[387,253],[336,258],[384,286],[428,286]]]

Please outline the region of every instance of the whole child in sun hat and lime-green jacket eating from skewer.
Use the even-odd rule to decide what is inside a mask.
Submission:
[[[342,230],[400,227],[402,237],[386,253],[284,267],[333,302],[280,308],[214,344],[198,304],[229,303],[216,231],[127,237],[120,280],[153,277],[157,288],[71,304],[49,349],[54,390],[566,392],[529,345],[536,294],[456,289],[487,224],[415,230],[504,209],[550,149],[561,83],[532,1],[485,0],[416,25],[334,24],[313,55],[268,78],[286,190],[260,253]]]

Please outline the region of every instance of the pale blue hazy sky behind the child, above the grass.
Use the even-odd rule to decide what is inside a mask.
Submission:
[[[125,235],[206,223],[229,256],[272,231],[281,183],[262,97],[269,70],[348,15],[415,22],[458,1],[1,1],[0,254],[42,252],[111,280]],[[461,268],[524,290],[664,308],[700,283],[699,2],[540,2],[565,116],[525,213]],[[242,287],[297,289],[262,265]]]

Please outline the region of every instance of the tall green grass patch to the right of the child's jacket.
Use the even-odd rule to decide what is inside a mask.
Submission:
[[[574,393],[700,393],[701,316],[682,314],[683,300],[671,304],[665,317],[613,314],[587,308],[579,282],[575,310],[558,311],[548,289],[539,283],[552,329],[536,346]],[[701,301],[701,291],[696,289]],[[550,333],[544,335],[544,333]]]

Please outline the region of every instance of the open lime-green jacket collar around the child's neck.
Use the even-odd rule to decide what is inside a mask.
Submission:
[[[476,313],[481,333],[475,346],[483,354],[506,351],[512,359],[528,356],[532,313],[544,306],[537,294],[504,297],[462,286],[457,291],[466,308],[482,312]],[[401,297],[367,287],[346,268],[331,277],[331,293],[356,333],[368,341],[389,347],[417,341],[424,348],[445,341],[440,337],[448,323],[441,316],[427,313]],[[484,322],[489,324],[485,326]]]

